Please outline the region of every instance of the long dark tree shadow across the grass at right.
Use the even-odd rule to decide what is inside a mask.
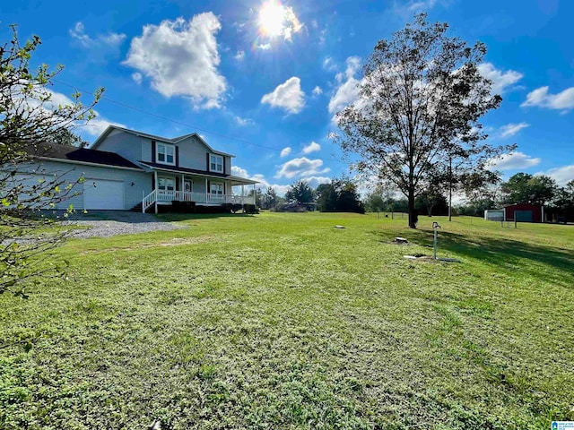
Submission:
[[[381,236],[381,232],[377,232]],[[412,230],[401,232],[409,242],[428,246],[433,245],[432,230]],[[392,236],[384,235],[385,240]],[[518,240],[465,236],[458,233],[439,232],[438,254],[441,257],[454,256],[470,258],[505,270],[522,271],[535,279],[552,281],[555,284],[574,288],[574,254],[570,250],[555,246],[535,245]],[[447,255],[445,255],[447,254]],[[524,260],[529,262],[525,264]],[[541,271],[541,265],[549,271]]]

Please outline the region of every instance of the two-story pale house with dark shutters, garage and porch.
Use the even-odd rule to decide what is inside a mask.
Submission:
[[[38,156],[36,176],[58,172],[70,182],[84,178],[76,185],[82,193],[60,203],[61,209],[71,203],[80,210],[157,213],[159,205],[175,202],[255,204],[245,185],[257,181],[231,175],[233,157],[213,150],[197,133],[169,139],[110,125],[90,149],[49,145]],[[232,193],[238,185],[241,191]]]

